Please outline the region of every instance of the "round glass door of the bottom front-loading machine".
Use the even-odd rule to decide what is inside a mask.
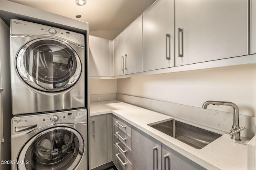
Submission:
[[[19,170],[73,170],[82,159],[84,141],[80,133],[68,127],[42,131],[22,148]]]

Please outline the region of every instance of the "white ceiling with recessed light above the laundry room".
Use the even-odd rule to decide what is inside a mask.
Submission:
[[[89,23],[89,34],[114,39],[156,0],[10,0],[54,14]],[[76,18],[81,15],[81,18]]]

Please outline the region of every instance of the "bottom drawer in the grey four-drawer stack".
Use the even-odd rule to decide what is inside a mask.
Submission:
[[[117,147],[114,147],[114,163],[118,170],[132,170],[132,165]]]

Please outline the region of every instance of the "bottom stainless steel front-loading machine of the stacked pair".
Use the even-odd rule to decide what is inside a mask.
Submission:
[[[87,170],[86,109],[14,116],[12,170]]]

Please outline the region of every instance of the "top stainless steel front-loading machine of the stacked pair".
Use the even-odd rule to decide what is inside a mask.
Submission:
[[[85,107],[83,34],[11,20],[12,114]]]

